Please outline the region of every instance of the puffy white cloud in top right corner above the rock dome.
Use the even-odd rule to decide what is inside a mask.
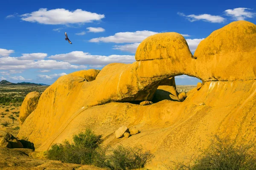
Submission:
[[[245,20],[245,18],[252,18],[256,15],[256,13],[249,12],[246,10],[252,10],[250,8],[234,8],[227,9],[224,11],[227,16],[233,17],[234,20]]]

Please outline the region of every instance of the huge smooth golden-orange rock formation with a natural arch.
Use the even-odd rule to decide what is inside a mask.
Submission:
[[[154,170],[198,155],[214,134],[255,143],[255,56],[256,25],[247,21],[213,31],[194,55],[181,34],[152,35],[140,43],[132,64],[58,78],[25,117],[17,137],[45,151],[90,127],[103,135],[104,144],[150,150],[155,157],[146,168]],[[182,74],[203,84],[181,99],[173,77]],[[142,101],[154,102],[139,105]],[[116,139],[121,126],[140,133]]]

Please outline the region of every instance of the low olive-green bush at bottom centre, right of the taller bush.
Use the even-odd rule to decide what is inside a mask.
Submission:
[[[94,165],[110,170],[129,170],[143,168],[150,161],[153,154],[150,151],[142,151],[141,147],[123,147],[119,145],[115,149],[99,148],[94,156]]]

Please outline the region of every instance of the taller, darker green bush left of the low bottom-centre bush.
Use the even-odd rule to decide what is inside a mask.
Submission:
[[[73,136],[73,143],[65,140],[62,144],[53,144],[47,151],[47,158],[75,164],[92,164],[95,149],[103,142],[102,135],[96,135],[92,130]]]

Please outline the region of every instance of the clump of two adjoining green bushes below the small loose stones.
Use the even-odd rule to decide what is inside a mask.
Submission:
[[[73,136],[73,143],[65,140],[62,144],[53,144],[47,151],[47,158],[67,163],[94,164],[97,167],[110,170],[128,170],[143,168],[153,155],[142,148],[102,147],[102,135],[96,135],[92,130]]]

